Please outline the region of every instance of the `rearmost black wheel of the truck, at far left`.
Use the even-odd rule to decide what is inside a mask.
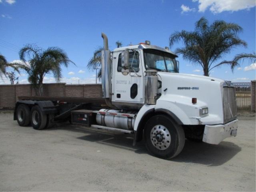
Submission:
[[[19,126],[28,126],[30,123],[30,108],[26,104],[19,104],[16,110]]]

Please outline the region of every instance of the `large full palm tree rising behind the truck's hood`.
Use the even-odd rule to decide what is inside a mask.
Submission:
[[[176,53],[182,54],[185,60],[202,66],[204,76],[209,76],[210,70],[230,62],[216,62],[237,46],[247,46],[246,42],[238,37],[242,28],[234,23],[216,20],[211,25],[204,17],[195,24],[195,30],[188,32],[174,32],[170,35],[170,47],[183,40],[184,47],[177,48]]]

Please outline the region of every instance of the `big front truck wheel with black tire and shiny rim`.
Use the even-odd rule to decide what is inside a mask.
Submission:
[[[177,156],[185,144],[183,128],[166,115],[153,116],[146,122],[144,138],[148,151],[165,159]]]

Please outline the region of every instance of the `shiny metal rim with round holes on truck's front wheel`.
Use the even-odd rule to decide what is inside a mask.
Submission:
[[[150,140],[159,150],[165,150],[171,144],[171,134],[163,125],[156,125],[150,131]]]

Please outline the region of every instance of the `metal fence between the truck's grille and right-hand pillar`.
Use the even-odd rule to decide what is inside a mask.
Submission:
[[[238,109],[251,108],[251,82],[233,83],[236,88],[236,106]]]

